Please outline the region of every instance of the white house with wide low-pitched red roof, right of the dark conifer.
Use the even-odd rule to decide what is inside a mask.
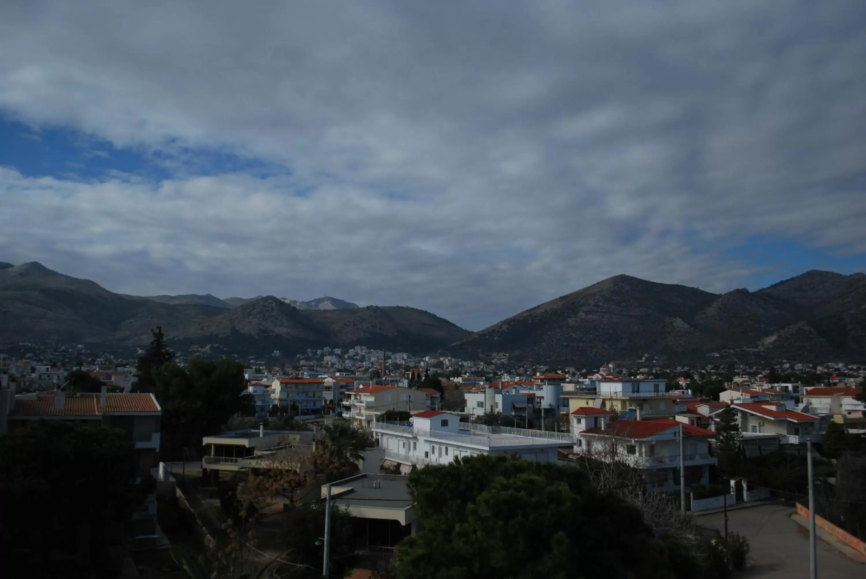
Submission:
[[[781,444],[819,440],[818,416],[789,409],[782,402],[741,402],[733,406],[744,440],[760,434],[779,436]]]

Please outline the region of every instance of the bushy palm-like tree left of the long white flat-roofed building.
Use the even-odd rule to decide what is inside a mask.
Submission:
[[[373,441],[363,430],[346,421],[334,421],[325,427],[325,434],[315,441],[312,454],[313,470],[323,482],[346,479],[358,472],[358,462]]]

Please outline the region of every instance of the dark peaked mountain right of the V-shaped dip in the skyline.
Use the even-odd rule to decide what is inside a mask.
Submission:
[[[736,351],[738,358],[863,360],[866,275],[811,271],[757,292],[721,295],[617,275],[520,312],[451,350],[549,363],[644,353],[706,359],[720,351]]]

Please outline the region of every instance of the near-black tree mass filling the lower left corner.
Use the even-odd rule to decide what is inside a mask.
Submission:
[[[109,537],[146,489],[132,486],[134,445],[120,430],[32,422],[0,437],[0,541],[32,576],[106,576]],[[74,558],[58,561],[55,550]]]

